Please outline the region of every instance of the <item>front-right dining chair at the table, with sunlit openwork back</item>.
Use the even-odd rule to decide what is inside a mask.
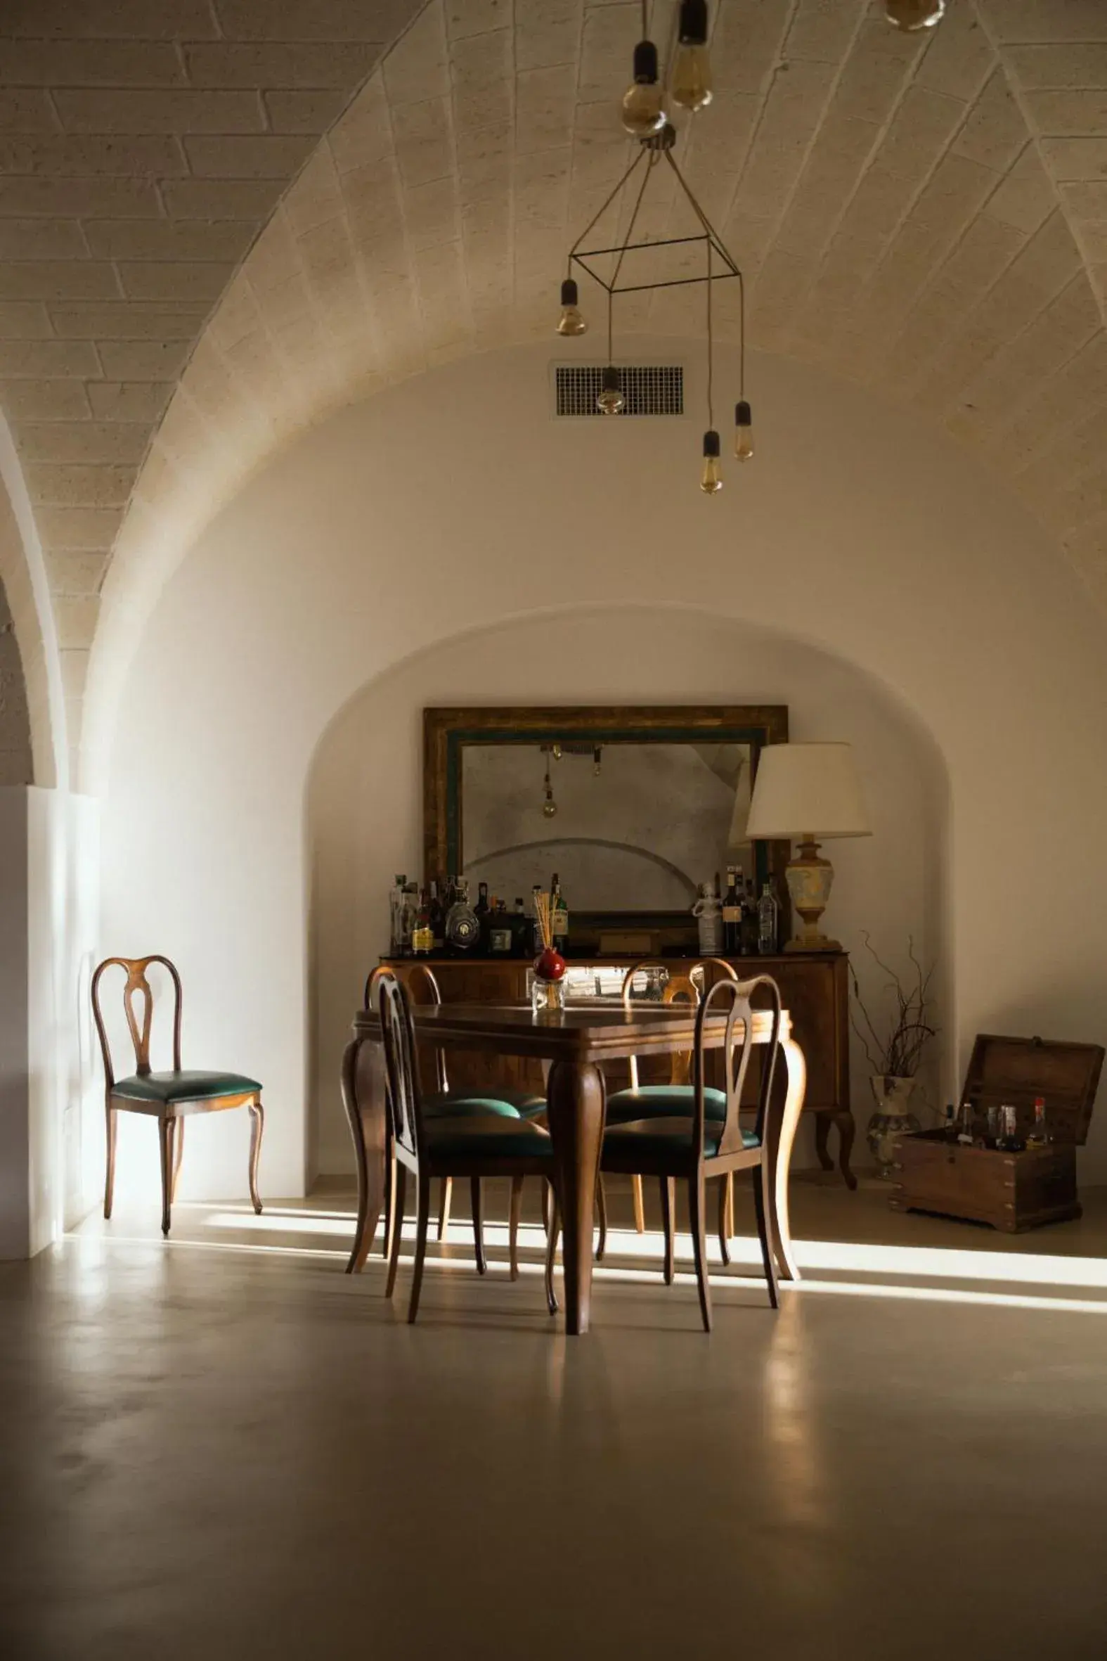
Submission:
[[[767,987],[773,1002],[773,1031],[768,1045],[768,1058],[760,1070],[760,1090],[757,1103],[757,1126],[744,1131],[739,1115],[742,1111],[742,1086],[749,1070],[753,1048],[753,1010],[750,997],[757,987]],[[704,1083],[707,1051],[704,1048],[704,1022],[717,1013],[727,1015],[727,1033],[724,1046],[724,1080],[725,1090],[722,1116],[712,1115],[712,1098]],[[780,1038],[780,988],[768,975],[755,975],[752,980],[719,980],[710,987],[695,1012],[695,1051],[692,1076],[692,1113],[656,1115],[651,1118],[627,1120],[609,1124],[604,1131],[601,1154],[602,1171],[621,1171],[624,1174],[641,1173],[656,1176],[661,1181],[662,1208],[666,1211],[666,1279],[672,1281],[672,1193],[674,1184],[684,1178],[689,1184],[689,1218],[692,1224],[692,1251],[695,1256],[695,1279],[699,1284],[700,1314],[704,1330],[710,1332],[710,1282],[707,1277],[707,1239],[705,1239],[705,1188],[717,1178],[729,1178],[735,1171],[750,1171],[753,1179],[753,1201],[757,1208],[757,1234],[762,1246],[762,1262],[768,1284],[768,1301],[777,1307],[777,1276],[773,1269],[773,1249],[768,1239],[768,1183],[770,1159],[765,1146],[768,1131],[768,1108],[772,1100],[772,1083],[777,1061],[777,1043]],[[739,1040],[740,1028],[740,1040]],[[720,1206],[722,1213],[722,1206]]]

